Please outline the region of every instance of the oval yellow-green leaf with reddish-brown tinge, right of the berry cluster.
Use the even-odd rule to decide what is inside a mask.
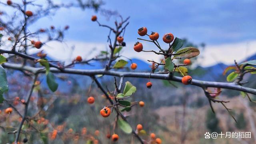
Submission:
[[[175,59],[182,59],[182,58],[194,58],[195,56],[198,56],[200,54],[199,50],[197,48],[188,47],[183,48],[176,52],[177,55],[174,55],[173,58]]]

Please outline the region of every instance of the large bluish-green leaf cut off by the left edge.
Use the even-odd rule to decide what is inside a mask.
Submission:
[[[8,91],[8,82],[6,77],[6,71],[0,65],[0,103],[3,102],[3,94]]]

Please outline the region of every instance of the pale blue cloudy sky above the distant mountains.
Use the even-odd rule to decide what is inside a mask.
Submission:
[[[15,0],[13,1],[15,2]],[[42,1],[44,0],[36,0],[38,3],[42,3]],[[125,52],[126,56],[140,58],[131,50],[132,44],[139,37],[137,30],[142,26],[146,26],[148,31],[158,32],[160,38],[163,34],[171,32],[174,36],[188,38],[195,44],[204,42],[208,54],[212,54],[216,50],[220,51],[217,53],[217,60],[212,59],[212,62],[206,65],[214,64],[218,60],[233,62],[237,56],[240,56],[238,59],[242,60],[237,46],[240,48],[242,46],[243,49],[250,46],[242,55],[243,58],[256,52],[256,50],[250,51],[256,49],[254,47],[256,46],[255,0],[105,0],[104,2],[106,4],[102,8],[116,10],[124,18],[130,16],[130,24],[126,29],[124,41],[128,44],[127,48],[131,48]],[[114,26],[113,21],[116,20],[116,17],[106,20],[104,16],[93,10],[83,11],[71,8],[61,9],[50,18],[42,18],[30,26],[30,30],[48,28],[51,25],[63,28],[68,24],[70,30],[66,32],[65,42],[70,42],[72,45],[79,43],[78,45],[83,47],[76,53],[80,53],[84,47],[86,50],[94,47],[106,48],[109,31],[106,28],[98,27],[96,22],[90,20],[94,14],[98,16],[98,20],[102,24]],[[150,44],[146,46],[153,47]],[[234,57],[226,56],[225,59],[225,55],[219,54],[222,53],[222,49],[229,52],[232,47],[236,47],[236,49],[234,48]],[[88,54],[84,56],[88,56]]]

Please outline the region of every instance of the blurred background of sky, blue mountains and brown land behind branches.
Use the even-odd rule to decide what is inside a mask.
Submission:
[[[72,0],[54,0],[56,3],[68,3]],[[1,0],[0,2],[4,2]],[[13,0],[13,2],[21,2]],[[98,1],[97,1],[98,2]],[[84,60],[93,58],[100,51],[108,49],[107,36],[109,30],[99,27],[96,22],[91,21],[92,15],[98,16],[101,24],[114,27],[114,21],[130,16],[130,24],[126,28],[124,41],[126,47],[121,54],[132,58],[132,62],[138,64],[132,72],[150,72],[151,63],[147,60],[160,61],[159,55],[151,53],[137,53],[133,45],[140,36],[138,28],[146,26],[148,31],[158,32],[160,38],[165,33],[171,32],[174,36],[184,40],[184,46],[194,46],[200,50],[200,55],[192,58],[192,65],[188,66],[188,74],[194,79],[226,82],[226,76],[222,72],[227,66],[233,65],[234,60],[238,63],[256,58],[256,1],[255,0],[162,0],[162,1],[138,1],[138,0],[111,0],[100,1],[100,9],[81,9],[79,7],[60,8],[49,16],[40,18],[29,25],[30,32],[36,32],[40,28],[64,28],[69,25],[65,32],[63,42],[52,41],[46,43],[40,50],[47,53],[48,60],[58,60],[66,64],[72,62],[80,55]],[[44,6],[44,0],[35,0],[34,3]],[[36,6],[28,8],[36,10]],[[0,10],[6,15],[0,17],[8,20],[11,8],[0,5]],[[18,13],[18,12],[16,12]],[[18,14],[17,14],[18,15]],[[113,36],[113,35],[112,35]],[[2,38],[2,43],[8,37]],[[47,36],[36,37],[46,40]],[[1,44],[2,44],[1,43]],[[154,44],[143,42],[145,50],[157,50]],[[164,42],[160,42],[164,47]],[[10,48],[10,43],[2,44],[1,48]],[[166,44],[166,48],[168,45]],[[39,51],[30,50],[30,54],[36,56]],[[13,58],[12,61],[16,59]],[[177,61],[179,62],[179,61]],[[76,64],[77,69],[101,69],[106,62],[91,62],[90,65]],[[128,64],[130,66],[130,62]],[[178,75],[178,74],[177,74]],[[8,70],[8,82],[10,90],[6,98],[13,100],[16,96],[26,97],[30,88],[30,78],[24,77],[22,72]],[[248,74],[245,80],[250,80],[246,86],[255,88],[255,77]],[[82,128],[87,128],[87,133],[93,135],[101,144],[111,144],[106,138],[111,134],[114,116],[102,118],[99,111],[102,106],[109,105],[102,92],[92,83],[90,77],[58,74],[59,84],[57,92],[50,92],[44,75],[40,76],[41,84],[33,93],[29,115],[33,116],[38,111],[41,116],[48,120],[47,124],[38,124],[38,129],[44,130],[40,133],[22,134],[30,138],[31,144],[41,144],[49,141],[54,144],[75,143],[74,138],[68,135],[58,136],[56,140],[48,139],[48,133],[58,126],[63,126],[63,131],[72,128],[73,133],[80,133]],[[104,88],[114,90],[114,78],[104,76],[100,78]],[[222,100],[229,100],[226,104],[232,109],[232,115],[238,123],[235,123],[226,109],[218,103],[213,107],[216,114],[210,110],[208,99],[202,89],[195,86],[183,86],[180,83],[165,80],[151,80],[153,86],[150,90],[146,88],[147,79],[125,78],[137,87],[137,92],[130,99],[134,101],[143,100],[144,108],[136,106],[131,112],[127,112],[128,121],[135,128],[142,124],[146,134],[142,138],[149,139],[148,134],[154,132],[160,137],[163,144],[253,144],[256,140],[256,104],[243,98],[240,92],[234,90],[222,90]],[[92,84],[92,85],[91,85]],[[89,94],[89,88],[92,90]],[[88,96],[96,99],[93,105],[86,102]],[[252,100],[255,96],[250,95]],[[0,104],[4,109],[8,104]],[[22,104],[16,105],[22,111]],[[0,114],[0,143],[14,141],[14,136],[7,134],[12,127],[18,126],[18,115],[6,117]],[[35,122],[36,123],[36,122]],[[24,125],[25,126],[25,125]],[[99,134],[95,131],[99,130]],[[251,132],[251,138],[218,138],[216,140],[205,139],[205,132]],[[130,144],[132,135],[127,135],[118,130],[120,140],[117,143]],[[136,139],[135,143],[137,143]],[[78,140],[78,143],[85,143]]]

